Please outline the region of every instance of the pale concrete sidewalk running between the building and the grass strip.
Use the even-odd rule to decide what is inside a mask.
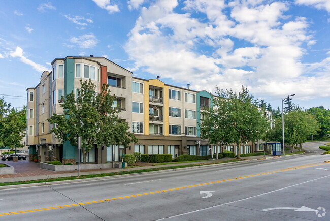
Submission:
[[[277,156],[278,157],[278,156]],[[281,156],[283,157],[283,156]],[[272,155],[266,155],[265,159],[274,158]],[[243,160],[262,160],[263,156],[248,156],[242,157]],[[101,173],[111,173],[111,172],[121,172],[121,171],[134,171],[134,170],[142,170],[142,169],[150,169],[150,168],[159,168],[159,167],[171,167],[171,166],[179,166],[179,165],[190,165],[190,164],[210,164],[216,162],[223,162],[227,160],[232,160],[231,158],[222,158],[222,159],[214,159],[207,161],[199,161],[199,162],[185,162],[185,163],[177,163],[177,164],[165,164],[165,165],[155,165],[155,166],[142,166],[142,167],[131,167],[131,168],[111,168],[111,169],[97,169],[97,170],[84,170],[80,171],[80,175],[90,175],[90,174],[101,174]],[[236,163],[236,162],[230,162]],[[41,169],[43,170],[43,169]],[[48,170],[45,170],[48,171]],[[53,172],[53,171],[52,171]],[[21,177],[9,177],[9,178],[1,178],[0,182],[17,182],[17,181],[28,181],[28,180],[38,180],[38,179],[49,179],[49,178],[58,178],[58,177],[68,177],[68,176],[77,176],[78,171],[64,171],[64,172],[56,172],[53,174],[43,174],[36,176],[21,176]]]

